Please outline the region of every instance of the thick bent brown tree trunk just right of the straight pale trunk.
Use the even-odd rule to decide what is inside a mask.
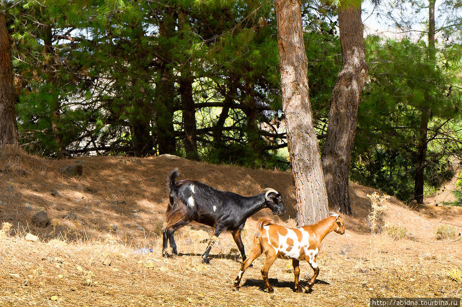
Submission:
[[[339,6],[338,26],[342,47],[342,69],[332,91],[322,166],[329,207],[352,214],[349,192],[351,151],[353,149],[359,100],[368,76],[365,62],[361,6]]]

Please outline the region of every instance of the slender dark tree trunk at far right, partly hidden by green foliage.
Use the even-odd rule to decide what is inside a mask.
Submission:
[[[429,1],[428,6],[428,57],[430,65],[434,66],[436,61],[435,50],[435,0]],[[426,101],[432,98],[430,94],[426,93]],[[424,174],[425,164],[427,160],[427,146],[428,146],[428,123],[431,119],[431,113],[427,109],[422,110],[420,130],[419,130],[419,144],[417,148],[417,163],[415,169],[414,180],[414,199],[418,204],[424,203]]]

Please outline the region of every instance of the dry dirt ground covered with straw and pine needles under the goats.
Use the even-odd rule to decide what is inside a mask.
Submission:
[[[83,165],[83,175],[67,177],[59,168]],[[371,236],[367,216],[373,188],[351,183],[354,216],[347,232],[328,235],[318,254],[320,274],[311,293],[293,292],[292,261],[278,259],[269,271],[275,293],[263,292],[261,256],[232,291],[241,260],[229,234],[220,236],[209,265],[201,263],[206,243],[192,223],[176,233],[180,256],[161,257],[160,232],[167,205],[166,176],[178,167],[190,178],[241,195],[272,187],[283,195],[287,213],[272,216],[294,225],[290,172],[210,165],[163,155],[152,158],[83,157],[46,160],[24,152],[0,151],[0,306],[365,306],[371,297],[461,297],[460,237],[436,240],[442,223],[462,231],[462,207],[423,205],[411,209],[393,197],[379,224],[393,223],[407,237]],[[430,202],[431,204],[431,202]],[[45,210],[50,225],[32,216]],[[249,250],[256,221],[247,221]],[[38,241],[26,240],[27,234]],[[153,249],[133,254],[140,247]],[[454,271],[453,271],[454,272]],[[313,270],[300,262],[301,281]]]

